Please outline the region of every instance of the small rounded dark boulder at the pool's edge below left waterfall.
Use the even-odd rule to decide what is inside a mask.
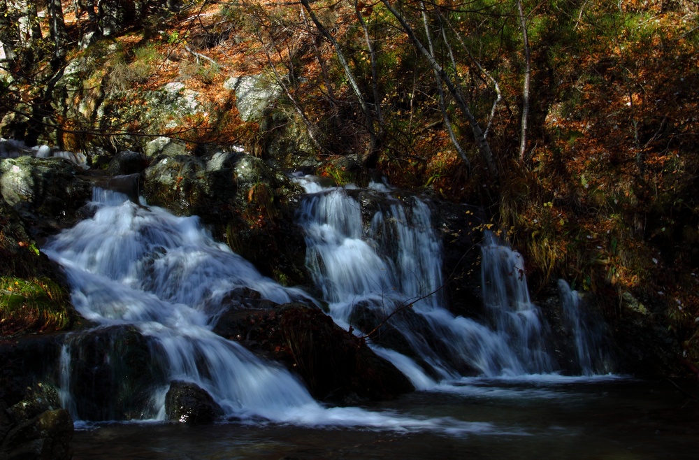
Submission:
[[[205,389],[174,380],[165,395],[165,415],[171,422],[209,424],[223,415],[223,410]]]

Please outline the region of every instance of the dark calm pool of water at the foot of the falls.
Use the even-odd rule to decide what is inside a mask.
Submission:
[[[75,432],[73,459],[696,459],[696,388],[670,380],[465,380],[365,408],[482,430],[95,424]]]

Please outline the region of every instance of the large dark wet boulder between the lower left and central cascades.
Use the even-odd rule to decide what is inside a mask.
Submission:
[[[393,364],[318,308],[287,304],[275,310],[231,310],[215,331],[282,361],[323,401],[381,400],[414,389]]]

